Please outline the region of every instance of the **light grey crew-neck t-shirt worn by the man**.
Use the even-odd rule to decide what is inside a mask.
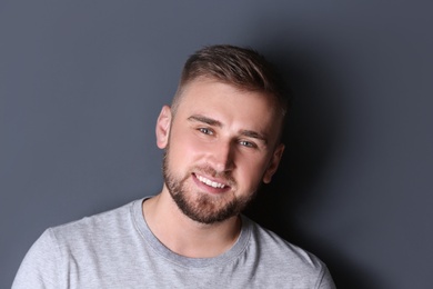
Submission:
[[[142,201],[46,230],[12,288],[335,288],[316,257],[244,216],[229,251],[177,255],[150,231]]]

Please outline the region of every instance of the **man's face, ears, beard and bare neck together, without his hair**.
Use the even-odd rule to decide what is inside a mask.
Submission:
[[[143,210],[165,246],[210,257],[235,241],[239,212],[271,181],[284,150],[276,111],[272,98],[211,79],[190,82],[174,114],[162,108],[155,131],[165,183]],[[203,243],[212,252],[201,252]]]

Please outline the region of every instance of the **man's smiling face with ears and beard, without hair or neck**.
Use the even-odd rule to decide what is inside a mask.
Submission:
[[[175,116],[164,107],[157,123],[165,187],[182,212],[202,223],[236,216],[278,168],[280,128],[274,102],[262,93],[190,82]]]

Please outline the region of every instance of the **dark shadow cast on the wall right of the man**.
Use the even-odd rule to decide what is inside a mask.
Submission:
[[[320,237],[309,238],[308,230],[296,222],[301,206],[326,198],[313,187],[326,161],[336,152],[334,148],[341,136],[339,123],[344,122],[344,111],[338,99],[343,92],[338,81],[329,79],[332,73],[320,68],[313,56],[292,53],[281,46],[279,49],[261,51],[271,62],[278,63],[283,80],[291,83],[294,92],[283,137],[285,151],[273,181],[261,188],[245,215],[318,255],[328,265],[338,288],[379,288],[367,270],[351,263],[338,248],[326,245]]]

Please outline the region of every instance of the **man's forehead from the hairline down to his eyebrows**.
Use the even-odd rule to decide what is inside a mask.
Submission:
[[[175,114],[221,128],[235,126],[236,131],[272,142],[282,123],[278,111],[270,96],[207,79],[185,88]]]

